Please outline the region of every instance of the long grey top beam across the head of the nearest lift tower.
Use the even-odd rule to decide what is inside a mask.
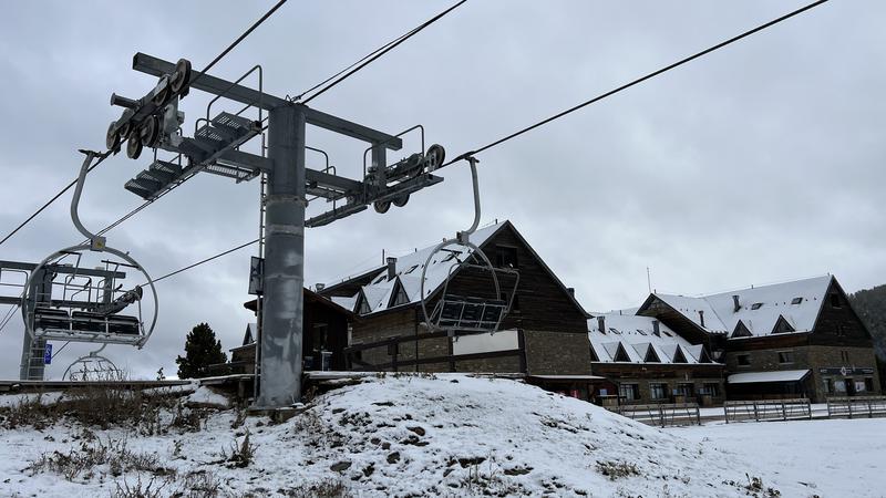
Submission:
[[[157,59],[152,55],[138,52],[133,56],[132,69],[153,76],[163,76],[175,71],[175,64],[163,59]],[[203,74],[198,71],[192,71],[190,81],[194,82],[193,86],[197,90],[212,93],[214,95],[224,96],[231,101],[239,102],[246,105],[254,105],[256,107],[271,111],[285,105],[292,105],[286,98],[280,98],[275,95],[253,90],[248,86],[233,84],[220,77]],[[305,110],[305,121],[313,126],[318,126],[330,132],[340,133],[352,138],[357,138],[370,144],[383,144],[385,148],[391,151],[400,151],[403,147],[403,142],[387,133],[381,133],[375,129],[369,128],[361,124],[352,123],[330,114],[312,110],[308,106],[302,106]]]

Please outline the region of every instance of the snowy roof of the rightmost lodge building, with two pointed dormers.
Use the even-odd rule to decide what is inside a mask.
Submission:
[[[741,329],[741,321],[750,336],[769,335],[780,318],[784,318],[790,326],[785,326],[783,333],[801,333],[810,332],[815,326],[831,280],[831,276],[824,276],[698,298],[663,293],[655,295],[708,332],[739,338],[741,334],[735,334],[735,331],[736,328]],[[733,297],[739,300],[738,311]],[[704,315],[704,325],[701,324],[700,311]]]

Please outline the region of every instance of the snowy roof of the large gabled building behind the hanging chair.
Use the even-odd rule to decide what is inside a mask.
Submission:
[[[507,221],[492,224],[490,226],[477,229],[471,235],[471,242],[477,247],[483,246],[490,237],[495,234]],[[414,252],[409,252],[396,258],[394,263],[395,278],[388,279],[388,267],[383,267],[372,277],[370,283],[360,288],[360,292],[352,297],[332,298],[333,302],[341,304],[349,310],[359,312],[356,309],[358,305],[360,293],[365,297],[367,303],[371,313],[384,311],[393,308],[394,300],[392,294],[398,290],[398,286],[402,286],[406,294],[406,302],[402,304],[414,304],[421,301],[421,276],[424,262],[427,256],[437,245],[419,249]],[[444,248],[431,259],[427,270],[425,272],[424,293],[431,295],[440,288],[450,274],[457,268],[457,264],[465,261],[473,252],[471,249],[453,245]],[[350,304],[349,307],[346,304]]]

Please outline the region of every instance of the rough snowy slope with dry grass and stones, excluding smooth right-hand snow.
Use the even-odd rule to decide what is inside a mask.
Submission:
[[[167,424],[172,414],[165,416]],[[99,442],[125,438],[130,452],[157,456],[163,469],[143,471],[143,481],[152,474],[161,475],[156,486],[172,480],[163,474],[208,475],[220,491],[257,496],[309,496],[311,486],[324,484],[362,496],[723,497],[752,494],[745,473],[767,484],[749,463],[704,443],[509,380],[369,377],[319,396],[282,424],[249,417],[240,426],[236,418],[235,411],[215,413],[198,433],[91,432]],[[247,429],[251,461],[244,468],[225,463]],[[43,453],[86,444],[72,422],[0,430],[2,496],[106,496],[115,481],[137,479],[134,470],[114,476],[109,465],[71,480],[27,469]]]

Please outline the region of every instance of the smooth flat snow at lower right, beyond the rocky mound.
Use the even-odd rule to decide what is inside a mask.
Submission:
[[[826,412],[826,409],[825,409]],[[711,424],[666,429],[767,469],[785,497],[886,497],[886,418]]]

